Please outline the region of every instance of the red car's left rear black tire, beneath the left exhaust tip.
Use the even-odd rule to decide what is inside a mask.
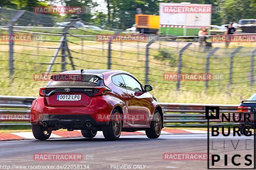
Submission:
[[[52,134],[52,130],[45,130],[42,125],[36,124],[32,124],[32,132],[37,140],[46,140]]]

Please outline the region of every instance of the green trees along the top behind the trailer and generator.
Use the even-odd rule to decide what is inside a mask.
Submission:
[[[134,24],[136,9],[140,8],[143,14],[158,15],[159,3],[212,4],[212,25],[223,25],[239,19],[256,19],[256,0],[1,0],[0,7],[33,11],[34,6],[83,6],[86,10],[78,14],[79,18],[99,26],[108,26],[126,29]],[[106,9],[101,11],[97,6]],[[96,8],[95,8],[96,7]],[[58,15],[58,14],[52,14]],[[71,17],[71,14],[60,16]]]

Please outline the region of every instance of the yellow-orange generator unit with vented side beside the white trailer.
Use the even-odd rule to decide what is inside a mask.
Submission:
[[[160,28],[160,17],[158,15],[135,15],[136,28],[140,33],[156,33]]]

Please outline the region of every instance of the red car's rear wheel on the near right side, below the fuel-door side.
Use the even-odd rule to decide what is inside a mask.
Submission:
[[[120,113],[118,110],[113,110],[111,114],[111,119],[109,121],[108,125],[103,126],[103,136],[105,139],[111,141],[111,140],[117,140],[121,135],[122,130],[122,120]]]

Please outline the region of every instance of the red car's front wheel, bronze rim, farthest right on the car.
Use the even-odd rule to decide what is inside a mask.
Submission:
[[[146,135],[150,139],[156,139],[160,136],[162,130],[162,119],[160,112],[155,110],[150,128],[146,130]]]

